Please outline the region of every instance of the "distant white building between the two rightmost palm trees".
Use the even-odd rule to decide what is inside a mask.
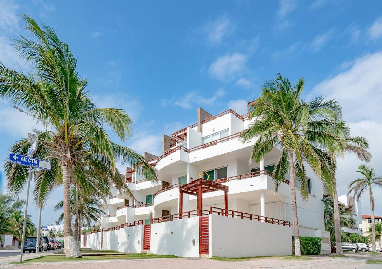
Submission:
[[[356,201],[353,196],[342,195],[338,196],[338,204],[343,205],[345,211],[350,212],[354,219],[353,228],[351,227],[342,227],[342,230],[345,233],[358,233],[362,235],[362,230],[360,224],[362,223],[361,217],[361,201]]]

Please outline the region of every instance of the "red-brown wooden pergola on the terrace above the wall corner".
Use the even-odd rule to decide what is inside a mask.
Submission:
[[[198,178],[179,187],[179,218],[181,218],[181,213],[183,212],[183,194],[196,196],[197,215],[201,216],[203,209],[203,193],[212,191],[224,192],[224,209],[228,210],[228,186],[216,183],[214,181]]]

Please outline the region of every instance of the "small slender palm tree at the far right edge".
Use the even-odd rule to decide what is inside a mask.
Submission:
[[[372,186],[377,185],[382,187],[382,176],[376,176],[376,172],[374,168],[360,165],[358,166],[358,170],[356,173],[360,173],[362,175],[361,178],[354,179],[349,183],[348,189],[350,194],[354,192],[354,196],[357,201],[359,197],[363,194],[364,191],[369,191],[370,197],[370,209],[371,209],[371,240],[372,240],[372,252],[376,252],[376,233],[375,233],[375,221],[374,221],[374,197],[372,192]]]

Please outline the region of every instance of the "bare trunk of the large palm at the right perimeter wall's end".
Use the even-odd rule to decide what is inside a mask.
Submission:
[[[290,199],[292,204],[293,232],[295,234],[295,255],[301,256],[300,234],[298,230],[298,220],[297,220],[295,166],[293,163],[293,152],[291,151],[289,152],[289,162],[290,162]]]

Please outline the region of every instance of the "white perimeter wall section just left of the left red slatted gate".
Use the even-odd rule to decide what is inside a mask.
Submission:
[[[118,230],[118,251],[120,252],[141,253],[142,241],[143,225]]]

